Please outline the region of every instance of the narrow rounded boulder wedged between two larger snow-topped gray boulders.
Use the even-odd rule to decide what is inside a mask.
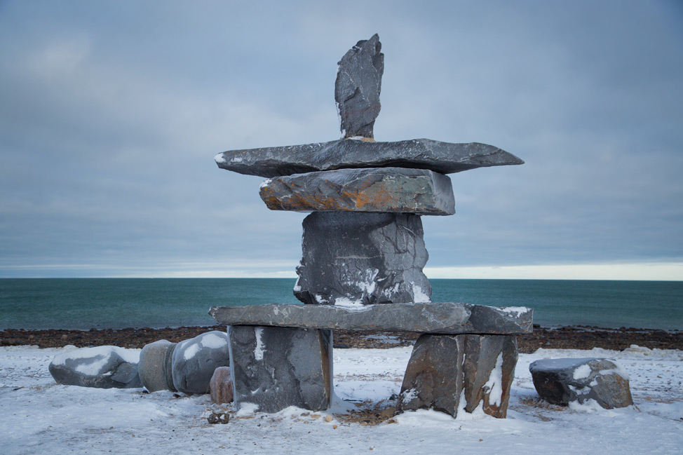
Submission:
[[[176,343],[168,340],[158,340],[144,345],[140,351],[140,380],[142,386],[150,392],[172,391],[173,386],[173,351]]]

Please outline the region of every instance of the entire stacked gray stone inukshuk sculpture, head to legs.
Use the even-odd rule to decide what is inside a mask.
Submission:
[[[417,318],[416,305],[430,302],[431,297],[431,285],[422,271],[428,254],[420,217],[455,212],[446,174],[523,162],[480,143],[426,139],[375,142],[373,126],[380,110],[384,72],[384,54],[380,51],[375,34],[367,41],[358,41],[339,62],[334,98],[342,123],[341,140],[226,151],[215,157],[220,168],[268,177],[261,185],[260,196],[271,210],[312,212],[303,223],[303,257],[297,267],[295,296],[304,304],[343,308],[344,316],[339,313],[338,317],[346,324],[325,320],[330,315],[319,311],[308,311],[295,323],[298,316],[290,314],[300,315],[300,311],[285,311],[285,306],[260,308],[255,310],[255,318],[246,318],[244,312],[238,315],[234,308],[212,308],[211,314],[219,322],[233,325],[231,360],[236,402],[254,403],[264,412],[289,405],[325,409],[332,390],[331,334],[320,329],[370,330],[349,311],[370,310],[376,304],[405,304],[388,316],[400,315],[398,325],[404,330],[450,335],[428,335],[417,341],[398,411],[433,407],[455,416],[461,391],[466,388],[469,412],[483,400],[485,412],[504,416],[506,399],[499,396],[489,400],[486,394],[494,385],[503,395],[509,388],[510,365],[513,370],[517,356],[516,339],[499,335],[494,340],[482,334],[529,331],[532,315],[528,308],[514,315],[482,309],[488,307],[439,304],[448,306],[446,311],[457,315],[457,322],[439,327],[411,322]],[[271,313],[265,315],[264,311]],[[428,307],[427,311],[438,310]],[[390,312],[372,311],[375,318],[384,313]],[[273,315],[280,322],[273,321]],[[476,318],[479,322],[473,322]],[[515,327],[505,328],[508,323]],[[271,325],[283,327],[264,327]],[[377,320],[372,328],[391,330]],[[304,346],[311,346],[305,355]],[[466,355],[463,362],[464,352],[482,361]],[[446,368],[443,362],[448,364]],[[494,384],[492,372],[504,367],[507,372],[499,373]],[[434,374],[452,376],[448,378],[451,385],[431,390]],[[467,390],[464,381],[472,387],[476,384],[478,390]],[[283,393],[285,388],[287,393]]]

